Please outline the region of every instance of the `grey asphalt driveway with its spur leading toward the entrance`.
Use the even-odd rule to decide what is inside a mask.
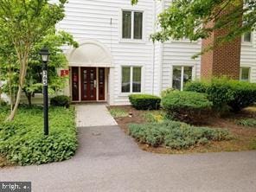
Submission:
[[[256,151],[157,155],[118,126],[80,128],[71,160],[0,170],[0,181],[32,181],[47,192],[255,192]]]

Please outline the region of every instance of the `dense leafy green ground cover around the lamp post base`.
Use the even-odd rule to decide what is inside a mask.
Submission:
[[[74,156],[77,131],[74,108],[49,108],[49,136],[43,135],[41,106],[19,108],[13,122],[4,123],[9,113],[0,108],[0,166],[60,162]]]

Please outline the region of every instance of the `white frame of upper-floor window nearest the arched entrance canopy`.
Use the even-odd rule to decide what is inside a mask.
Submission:
[[[131,38],[123,38],[123,11],[131,11]],[[142,38],[134,39],[134,12],[140,12],[143,14],[142,22]],[[138,42],[145,43],[145,28],[146,28],[146,11],[142,9],[120,9],[119,10],[119,42]]]

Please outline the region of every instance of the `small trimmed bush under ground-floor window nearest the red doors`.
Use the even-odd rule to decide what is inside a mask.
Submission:
[[[129,95],[131,106],[138,110],[157,110],[160,107],[161,99],[150,94]]]

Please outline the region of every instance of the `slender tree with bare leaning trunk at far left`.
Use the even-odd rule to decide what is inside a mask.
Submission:
[[[1,0],[0,1],[0,39],[6,38],[16,50],[19,70],[16,103],[10,112],[8,121],[13,120],[20,103],[25,76],[27,74],[29,53],[35,42],[60,22],[64,14],[67,0],[48,3],[48,0]]]

